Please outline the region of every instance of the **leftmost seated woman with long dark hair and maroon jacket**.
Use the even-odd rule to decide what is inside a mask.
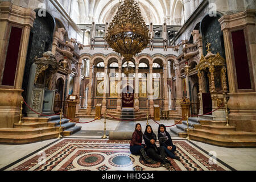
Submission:
[[[131,154],[139,155],[141,154],[144,161],[147,163],[151,163],[152,160],[148,158],[144,151],[144,144],[142,144],[142,131],[141,131],[141,124],[137,123],[135,126],[135,131],[133,132],[133,137],[131,138],[130,143],[130,151]]]

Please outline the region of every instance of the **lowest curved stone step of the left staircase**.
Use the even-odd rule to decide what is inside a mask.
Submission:
[[[50,133],[41,133],[34,135],[2,135],[0,134],[0,143],[3,144],[26,144],[39,142],[42,140],[53,139],[59,136],[59,131]]]

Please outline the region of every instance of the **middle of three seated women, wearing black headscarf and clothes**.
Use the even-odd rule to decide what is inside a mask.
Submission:
[[[143,139],[146,144],[146,152],[147,155],[163,164],[164,167],[170,167],[170,161],[165,159],[166,153],[164,152],[164,147],[156,147],[156,135],[152,131],[152,127],[150,125],[146,126],[146,130],[143,135]]]

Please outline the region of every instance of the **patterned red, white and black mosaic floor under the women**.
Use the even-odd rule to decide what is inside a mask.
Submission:
[[[213,162],[207,152],[184,139],[174,140],[181,161],[168,158],[166,169],[145,164],[129,150],[130,140],[63,138],[22,158],[7,171],[229,171],[221,160]]]

